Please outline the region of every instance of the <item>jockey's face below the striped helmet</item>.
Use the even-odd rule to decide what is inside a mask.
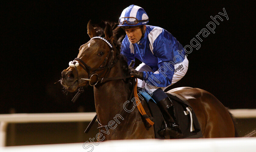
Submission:
[[[125,32],[132,44],[137,43],[142,36],[140,27],[125,29]]]

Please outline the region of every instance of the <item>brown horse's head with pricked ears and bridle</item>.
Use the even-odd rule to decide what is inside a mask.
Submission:
[[[99,37],[91,24],[87,24],[87,33],[91,40],[82,45],[77,58],[69,62],[69,67],[62,71],[61,84],[74,92],[79,87],[96,85],[99,77],[108,73],[110,66],[115,63],[117,49],[113,45],[113,30],[106,23],[105,37]]]

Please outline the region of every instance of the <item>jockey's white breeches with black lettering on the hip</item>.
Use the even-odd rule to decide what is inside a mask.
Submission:
[[[179,69],[180,67],[180,69]],[[187,60],[187,57],[185,57],[185,59],[181,62],[181,63],[178,63],[178,64],[175,64],[174,66],[175,69],[177,69],[174,74],[173,74],[173,77],[172,77],[172,84],[175,84],[176,82],[178,82],[181,78],[184,77],[184,75],[187,73],[187,69],[188,69],[188,60]],[[143,72],[143,71],[150,71],[150,72],[154,72],[152,71],[152,69],[145,63],[141,63],[135,70],[139,71],[139,72]],[[158,74],[159,73],[159,70],[155,71],[154,74]],[[151,92],[154,92],[156,89],[158,88],[161,88],[162,90],[165,90],[166,88],[168,88],[169,86],[171,85],[168,85],[167,87],[156,87],[156,86],[153,86],[153,85],[149,85],[147,84],[145,81],[142,81],[140,79],[138,79],[138,87],[140,88],[144,88],[147,90],[147,92],[151,93]]]

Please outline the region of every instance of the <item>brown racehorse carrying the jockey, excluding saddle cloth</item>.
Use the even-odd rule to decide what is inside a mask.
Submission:
[[[133,82],[132,78],[128,78],[127,62],[120,55],[119,30],[119,27],[106,23],[104,32],[99,28],[96,32],[89,21],[87,33],[91,40],[80,47],[77,58],[62,71],[61,84],[69,92],[94,86],[99,131],[105,133],[104,140],[155,138],[154,128],[145,125],[137,109],[125,112],[122,119],[116,119],[117,114],[123,113],[124,102],[130,99]],[[169,92],[180,95],[190,103],[203,138],[237,136],[232,115],[211,93],[190,87],[175,88]],[[150,114],[147,103],[141,103],[145,112]],[[127,109],[132,106],[128,105]],[[103,125],[108,127],[101,127]]]

